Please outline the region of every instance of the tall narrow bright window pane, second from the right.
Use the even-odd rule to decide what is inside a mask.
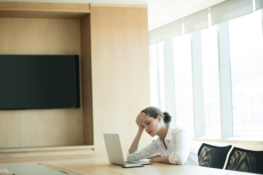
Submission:
[[[221,138],[217,26],[201,31],[205,135]]]

